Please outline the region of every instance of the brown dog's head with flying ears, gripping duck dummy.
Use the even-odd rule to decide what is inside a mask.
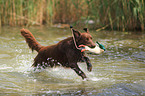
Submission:
[[[77,43],[77,46],[79,45],[86,45],[89,46],[91,48],[94,48],[96,45],[92,40],[92,36],[89,33],[89,30],[87,28],[84,28],[84,30],[86,31],[85,33],[81,33],[80,31],[73,29],[73,35],[75,37],[75,41]]]

